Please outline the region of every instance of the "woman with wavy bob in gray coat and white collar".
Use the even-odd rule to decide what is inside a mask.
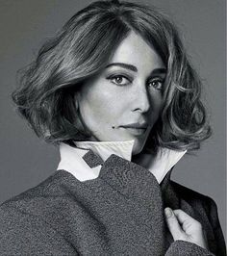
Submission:
[[[13,93],[61,162],[2,204],[3,255],[225,255],[214,201],[170,181],[210,136],[200,80],[154,8],[100,1],[46,42]]]

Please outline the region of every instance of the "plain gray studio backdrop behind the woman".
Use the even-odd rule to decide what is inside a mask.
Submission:
[[[39,141],[14,112],[16,70],[29,64],[46,38],[88,0],[0,0],[0,202],[36,186],[55,171],[58,148]],[[136,1],[135,1],[136,2]],[[225,1],[152,0],[177,23],[204,82],[214,135],[175,166],[172,179],[214,198],[226,226]]]

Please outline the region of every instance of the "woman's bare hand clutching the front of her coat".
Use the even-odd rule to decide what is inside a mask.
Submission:
[[[191,218],[182,210],[172,211],[168,207],[164,209],[164,215],[174,241],[183,240],[205,249],[208,248],[206,235],[199,221]]]

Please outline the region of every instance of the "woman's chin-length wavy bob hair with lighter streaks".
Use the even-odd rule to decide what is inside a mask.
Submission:
[[[152,44],[167,69],[162,115],[145,148],[197,149],[211,134],[200,101],[201,82],[189,64],[175,25],[154,7],[97,1],[72,16],[27,67],[13,101],[38,137],[52,143],[88,141],[75,92],[100,72],[134,31]]]

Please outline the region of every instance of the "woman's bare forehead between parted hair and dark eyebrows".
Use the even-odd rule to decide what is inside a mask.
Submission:
[[[138,69],[164,68],[164,63],[155,48],[135,32],[130,32],[114,52],[110,63],[133,64]]]

